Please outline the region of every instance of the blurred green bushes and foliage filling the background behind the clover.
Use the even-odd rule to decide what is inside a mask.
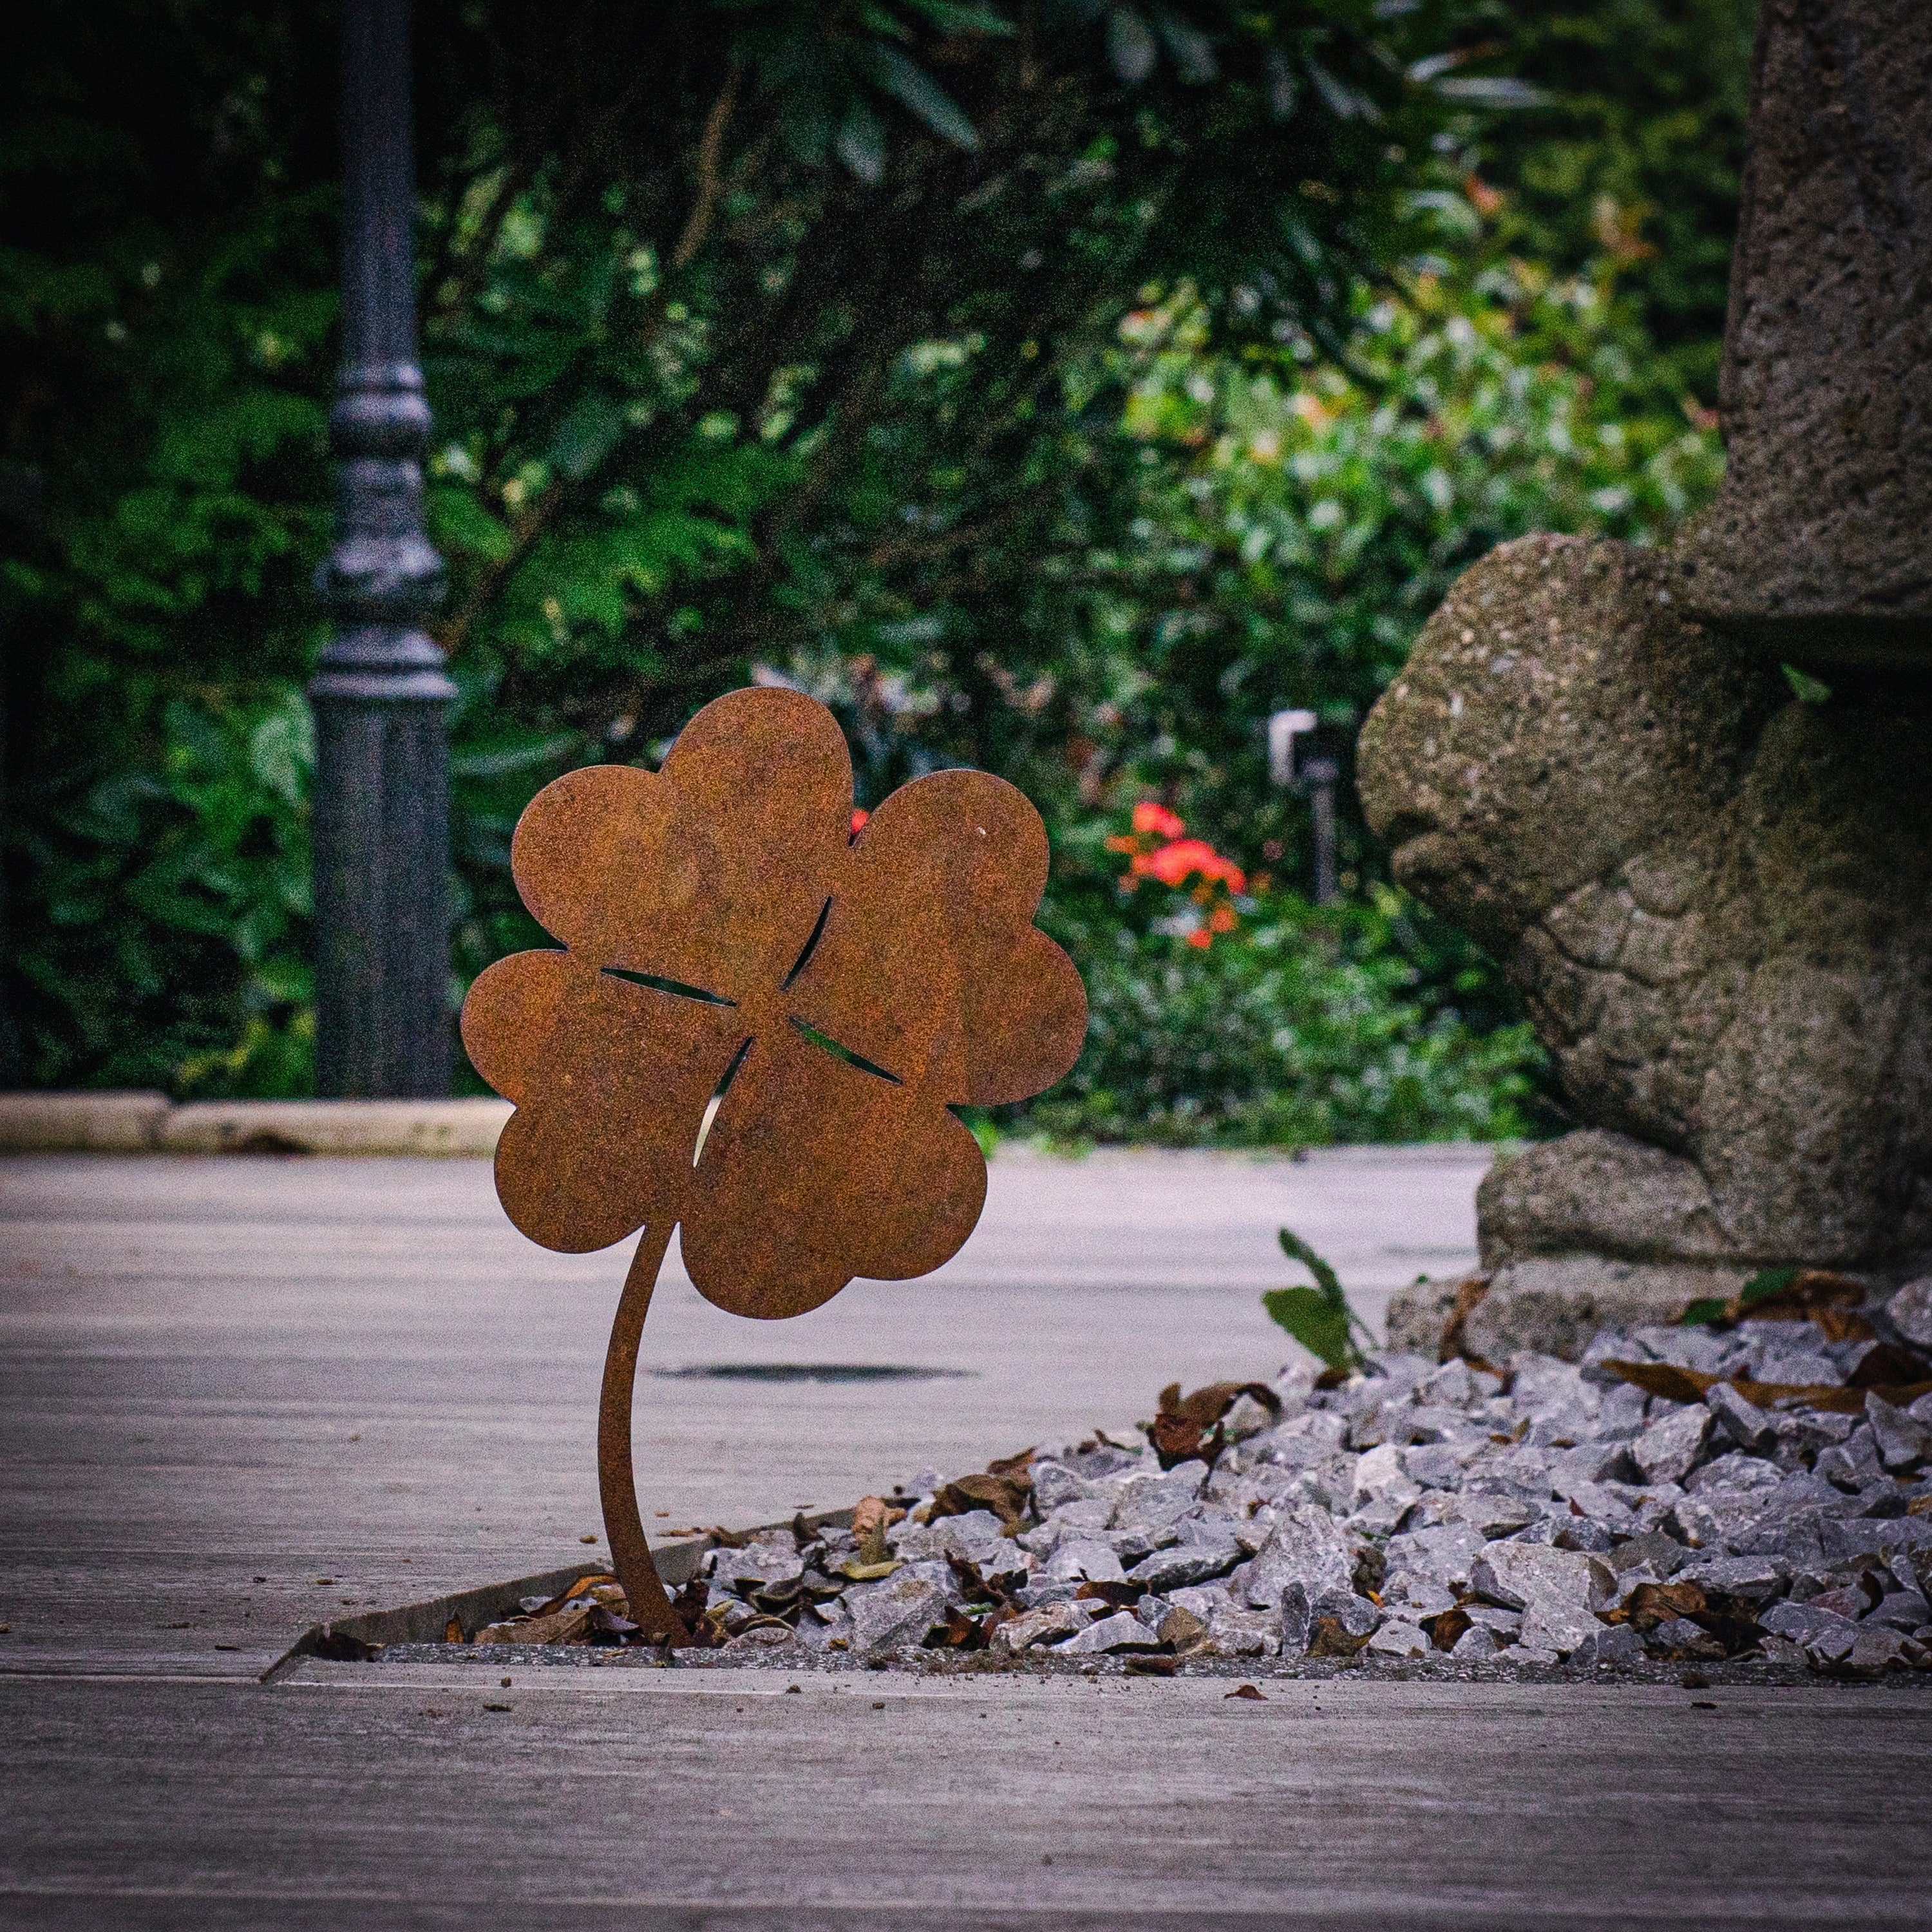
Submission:
[[[62,0],[4,81],[12,1084],[309,1080],[334,33]],[[1047,813],[1095,1030],[1036,1124],[1520,1130],[1505,989],[1360,825],[1345,908],[1285,889],[1260,724],[1358,723],[1492,543],[1708,495],[1748,35],[1739,0],[429,0],[452,1001],[535,937],[539,784],[784,678],[866,804],[966,761]],[[1275,881],[1238,943],[1115,885],[1140,796]]]

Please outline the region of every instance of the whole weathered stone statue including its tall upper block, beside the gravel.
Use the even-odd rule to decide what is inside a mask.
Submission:
[[[1478,1190],[1484,1354],[1932,1262],[1926,286],[1932,6],[1766,0],[1719,500],[1673,553],[1503,545],[1364,726],[1397,877],[1505,962],[1582,1122]]]

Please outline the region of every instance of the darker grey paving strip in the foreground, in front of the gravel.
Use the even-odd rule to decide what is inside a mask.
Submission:
[[[0,1679],[17,1928],[1920,1926],[1924,1698]],[[798,1683],[800,1694],[786,1694]],[[500,1704],[504,1710],[489,1710]],[[1710,1704],[1714,1708],[1700,1708]]]

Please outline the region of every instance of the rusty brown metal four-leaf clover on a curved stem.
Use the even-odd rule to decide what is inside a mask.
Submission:
[[[1086,1036],[1080,976],[1032,923],[1047,837],[1020,792],[941,771],[852,827],[833,715],[732,692],[661,771],[589,765],[531,800],[510,866],[562,951],[498,960],[464,1003],[469,1059],[516,1105],[497,1146],[510,1219],[568,1254],[643,1229],[597,1474],[657,1642],[684,1625],[645,1542],[630,1412],[672,1227],[697,1293],[742,1316],[923,1275],[985,1202],[949,1109],[1037,1094]]]

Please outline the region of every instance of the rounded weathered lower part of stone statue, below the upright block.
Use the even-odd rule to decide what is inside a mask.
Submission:
[[[1503,545],[1362,732],[1397,879],[1505,962],[1590,1122],[1478,1194],[1501,1352],[1932,1250],[1932,705],[1801,703],[1683,583]]]

